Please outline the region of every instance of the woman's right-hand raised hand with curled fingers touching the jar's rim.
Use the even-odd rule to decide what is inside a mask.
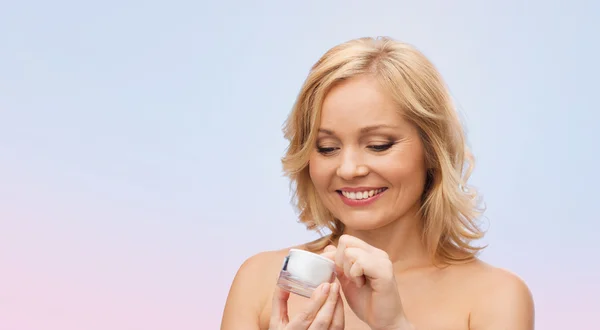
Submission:
[[[337,248],[325,248],[335,261],[348,306],[373,330],[404,330],[406,320],[388,254],[364,241],[342,235]]]

